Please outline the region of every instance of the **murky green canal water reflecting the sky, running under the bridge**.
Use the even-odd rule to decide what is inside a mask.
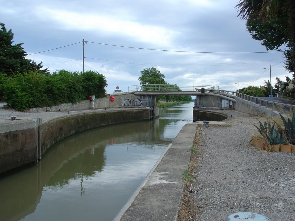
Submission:
[[[194,103],[153,121],[85,131],[60,141],[35,166],[0,179],[0,220],[113,220],[182,126]]]

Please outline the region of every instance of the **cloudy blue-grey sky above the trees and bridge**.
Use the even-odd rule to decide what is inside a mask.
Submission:
[[[170,84],[215,85],[224,90],[238,89],[238,82],[240,88],[263,85],[270,78],[263,67],[269,65],[273,85],[275,77],[291,77],[283,68],[281,52],[232,53],[268,52],[246,31],[246,21],[237,18],[237,2],[0,0],[0,22],[12,29],[14,43],[24,42],[27,58],[42,61],[50,72],[81,72],[85,39],[85,70],[106,76],[107,93],[116,86],[125,92],[128,86],[139,85],[140,71],[151,67]],[[73,45],[63,47],[69,44]],[[58,47],[63,48],[50,50]],[[45,50],[50,51],[37,53]]]

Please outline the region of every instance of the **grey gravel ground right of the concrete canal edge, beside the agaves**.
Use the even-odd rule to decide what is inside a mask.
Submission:
[[[255,212],[272,221],[295,220],[295,153],[267,152],[248,145],[258,119],[232,111],[229,127],[201,128],[194,169],[194,220],[225,220]]]

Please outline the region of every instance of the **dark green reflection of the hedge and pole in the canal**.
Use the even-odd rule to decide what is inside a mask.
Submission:
[[[71,179],[81,179],[82,188],[83,178],[94,176],[105,166],[104,149],[105,146],[96,147],[73,157],[50,177],[46,186],[64,186]]]

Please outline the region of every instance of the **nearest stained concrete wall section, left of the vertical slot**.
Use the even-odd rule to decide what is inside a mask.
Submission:
[[[37,159],[37,119],[0,125],[0,173]]]

